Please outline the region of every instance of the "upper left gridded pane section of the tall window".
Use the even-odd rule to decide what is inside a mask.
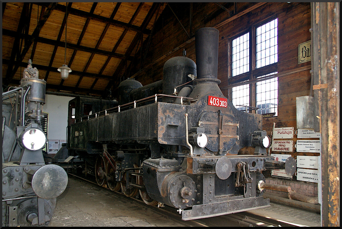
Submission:
[[[232,76],[249,71],[249,33],[232,42]]]

